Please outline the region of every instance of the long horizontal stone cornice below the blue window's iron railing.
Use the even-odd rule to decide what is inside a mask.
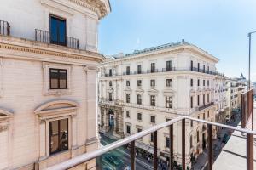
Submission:
[[[0,37],[0,49],[2,48],[20,51],[22,53],[52,55],[57,57],[83,59],[96,62],[102,62],[103,58],[102,54],[91,51],[61,47],[54,44],[44,44],[41,42],[24,40],[16,37]]]

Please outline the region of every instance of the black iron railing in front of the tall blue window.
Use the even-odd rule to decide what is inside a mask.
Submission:
[[[79,39],[66,36],[66,42],[52,42],[49,31],[35,29],[35,40],[37,42],[54,43],[57,45],[66,46],[68,48],[79,49]]]

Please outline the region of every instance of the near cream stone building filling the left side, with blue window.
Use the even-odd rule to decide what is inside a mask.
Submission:
[[[109,10],[105,0],[1,3],[0,169],[96,150],[97,26]]]

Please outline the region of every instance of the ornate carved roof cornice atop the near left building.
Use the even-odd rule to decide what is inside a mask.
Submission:
[[[110,12],[110,4],[103,3],[101,0],[69,0],[70,2],[76,3],[82,7],[89,8],[96,12],[99,19],[103,18]]]

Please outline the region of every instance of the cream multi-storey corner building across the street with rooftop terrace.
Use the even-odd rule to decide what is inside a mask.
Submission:
[[[177,116],[215,122],[218,59],[188,42],[169,43],[109,57],[100,66],[99,129],[123,138]],[[186,164],[207,147],[207,127],[186,122]],[[213,134],[216,129],[213,130]],[[168,129],[158,132],[158,154],[169,159]],[[153,136],[136,141],[153,153]],[[182,156],[181,123],[174,125],[174,158]]]

